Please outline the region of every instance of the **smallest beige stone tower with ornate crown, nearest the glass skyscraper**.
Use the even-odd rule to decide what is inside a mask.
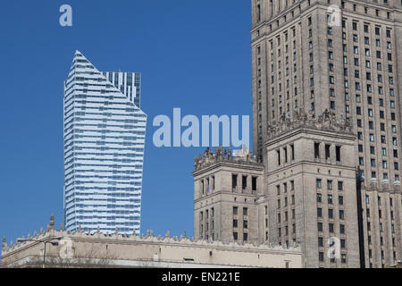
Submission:
[[[196,157],[193,176],[196,239],[257,242],[264,169],[249,150],[232,156],[230,148],[207,149]]]

